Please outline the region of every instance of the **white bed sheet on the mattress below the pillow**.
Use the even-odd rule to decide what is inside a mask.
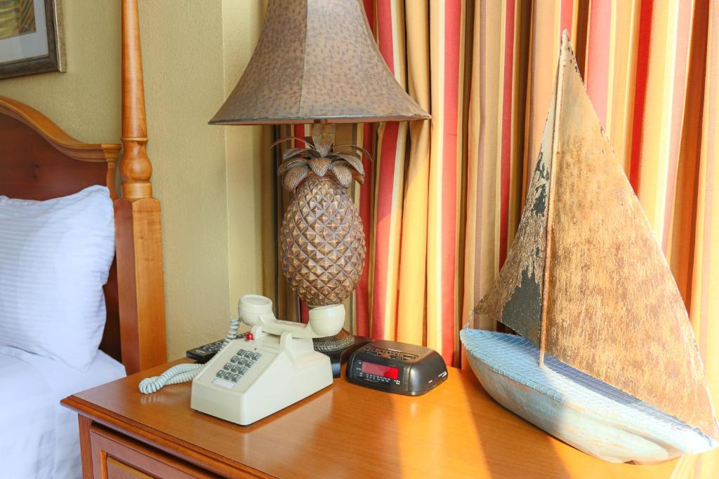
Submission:
[[[102,351],[82,372],[0,346],[0,478],[80,478],[77,414],[60,400],[124,376]]]

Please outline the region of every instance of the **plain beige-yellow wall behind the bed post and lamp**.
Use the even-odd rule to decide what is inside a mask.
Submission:
[[[170,358],[224,336],[237,296],[261,288],[260,131],[207,124],[249,61],[260,3],[140,1]],[[63,13],[67,73],[0,80],[0,95],[78,139],[117,142],[119,1],[66,0]]]

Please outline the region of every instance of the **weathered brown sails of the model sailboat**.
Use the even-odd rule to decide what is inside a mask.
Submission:
[[[515,242],[475,311],[719,437],[682,297],[566,34],[554,95]]]

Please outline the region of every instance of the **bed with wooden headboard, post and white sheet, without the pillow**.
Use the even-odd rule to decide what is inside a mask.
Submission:
[[[106,320],[86,371],[0,345],[1,474],[79,477],[77,415],[60,399],[166,361],[160,203],[152,197],[137,0],[122,1],[122,146],[87,144],[29,105],[0,96],[0,195],[52,200],[93,185],[114,204],[116,255]],[[110,209],[111,210],[111,209]]]

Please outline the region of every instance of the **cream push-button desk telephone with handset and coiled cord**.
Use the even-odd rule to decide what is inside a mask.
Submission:
[[[247,338],[234,339],[239,326],[234,320],[223,348],[208,363],[170,368],[143,380],[140,391],[192,379],[192,409],[247,425],[329,386],[329,357],[314,350],[312,338],[339,332],[344,307],[313,308],[303,325],[276,319],[272,305],[257,294],[243,296],[237,309],[239,320],[252,327]]]

